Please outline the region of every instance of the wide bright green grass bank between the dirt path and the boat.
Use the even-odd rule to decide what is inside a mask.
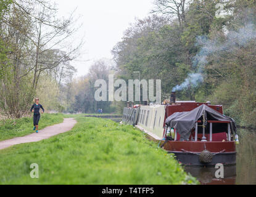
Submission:
[[[0,183],[198,183],[138,129],[109,119],[76,119],[72,131],[0,150]],[[39,166],[39,179],[30,177],[32,163]]]

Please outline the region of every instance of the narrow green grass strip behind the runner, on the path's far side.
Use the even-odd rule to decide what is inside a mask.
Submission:
[[[62,123],[64,115],[41,114],[39,130],[53,124]],[[8,119],[5,123],[0,121],[0,141],[31,134],[33,131],[33,116],[30,118]]]

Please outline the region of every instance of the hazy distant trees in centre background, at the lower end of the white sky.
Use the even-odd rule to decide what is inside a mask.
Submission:
[[[94,83],[97,79],[104,79],[109,82],[109,74],[113,74],[112,66],[106,60],[97,60],[91,65],[89,73],[78,79],[73,79],[61,89],[62,101],[67,106],[65,112],[68,113],[96,113],[101,108],[104,113],[112,113],[115,107],[112,102],[97,102],[94,98],[96,87]]]

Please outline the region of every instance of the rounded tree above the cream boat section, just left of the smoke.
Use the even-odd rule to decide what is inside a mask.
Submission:
[[[141,71],[141,79],[162,79],[162,95],[167,98],[191,69],[180,33],[164,17],[138,20],[112,50],[120,76],[133,79],[133,71]]]

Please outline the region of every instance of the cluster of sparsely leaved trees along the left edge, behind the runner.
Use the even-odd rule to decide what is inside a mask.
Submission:
[[[42,77],[54,78],[58,86],[72,78],[70,61],[82,42],[67,42],[77,30],[75,19],[60,19],[57,8],[43,0],[1,1],[0,30],[0,109],[9,118],[20,118],[28,113]],[[49,102],[57,103],[56,94]],[[61,104],[58,109],[63,110]]]

